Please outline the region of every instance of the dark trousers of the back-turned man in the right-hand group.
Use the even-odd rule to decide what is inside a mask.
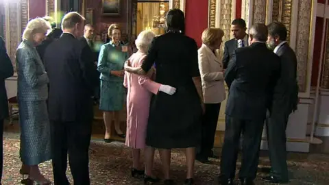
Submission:
[[[243,133],[243,143],[239,178],[255,179],[263,127],[264,119],[244,120],[226,115],[226,129],[221,151],[221,179],[234,179],[241,133]]]

